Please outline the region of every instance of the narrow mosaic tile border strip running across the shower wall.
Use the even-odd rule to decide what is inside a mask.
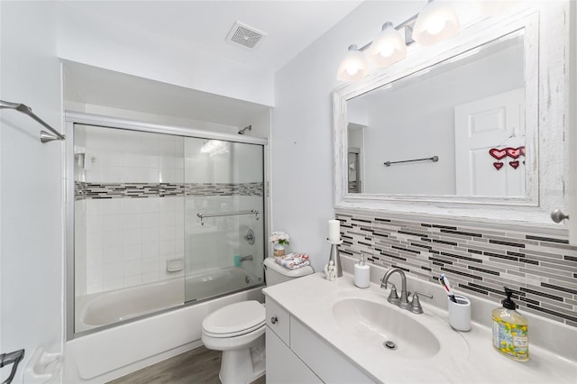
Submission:
[[[262,196],[262,183],[74,183],[76,200],[122,197]]]

